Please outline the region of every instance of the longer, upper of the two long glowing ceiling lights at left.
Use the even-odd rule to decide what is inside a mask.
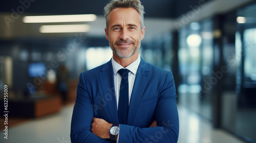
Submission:
[[[82,22],[94,21],[95,14],[78,14],[78,15],[45,15],[45,16],[25,16],[25,23],[51,23],[51,22]]]

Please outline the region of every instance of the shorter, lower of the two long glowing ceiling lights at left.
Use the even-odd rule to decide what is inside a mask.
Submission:
[[[74,33],[74,32],[88,32],[89,25],[50,25],[41,26],[40,33]]]

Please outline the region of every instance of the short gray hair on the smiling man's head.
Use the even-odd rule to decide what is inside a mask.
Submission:
[[[144,7],[140,0],[112,0],[104,7],[104,16],[106,18],[106,29],[109,28],[110,12],[115,8],[134,8],[140,14],[141,30],[144,27]]]

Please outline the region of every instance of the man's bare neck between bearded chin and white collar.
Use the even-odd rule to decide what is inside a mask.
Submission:
[[[128,65],[130,65],[131,63],[133,63],[134,61],[136,61],[139,57],[139,50],[134,53],[131,57],[128,58],[121,58],[119,56],[117,56],[115,53],[113,53],[113,59],[119,63],[122,67],[126,67]]]

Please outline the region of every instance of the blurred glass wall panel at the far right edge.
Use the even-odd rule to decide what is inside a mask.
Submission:
[[[256,141],[256,4],[237,11],[235,45],[224,41],[222,127],[248,142]],[[233,86],[234,85],[234,86]]]

